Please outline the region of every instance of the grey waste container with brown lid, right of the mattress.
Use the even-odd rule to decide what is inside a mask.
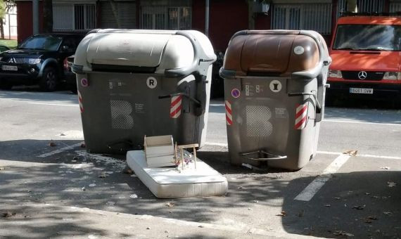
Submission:
[[[220,70],[233,164],[297,170],[314,157],[330,63],[317,32],[234,34]]]

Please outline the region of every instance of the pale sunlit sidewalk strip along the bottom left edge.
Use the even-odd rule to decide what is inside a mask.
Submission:
[[[310,238],[285,232],[15,200],[0,218],[0,238]]]

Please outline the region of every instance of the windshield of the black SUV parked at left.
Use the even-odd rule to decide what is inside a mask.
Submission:
[[[34,50],[46,50],[46,51],[57,51],[63,38],[51,37],[51,36],[37,36],[30,37],[23,44],[20,45],[20,49],[34,49]]]

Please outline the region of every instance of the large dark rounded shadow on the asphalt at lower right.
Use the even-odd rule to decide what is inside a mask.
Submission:
[[[389,187],[392,181],[397,186]],[[288,233],[325,238],[400,238],[400,183],[399,171],[333,174],[310,201],[294,200],[303,188],[284,198],[282,224]]]

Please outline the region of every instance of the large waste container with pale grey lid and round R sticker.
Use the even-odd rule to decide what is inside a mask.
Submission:
[[[87,150],[123,153],[145,135],[202,146],[215,60],[197,31],[89,32],[72,66]]]

